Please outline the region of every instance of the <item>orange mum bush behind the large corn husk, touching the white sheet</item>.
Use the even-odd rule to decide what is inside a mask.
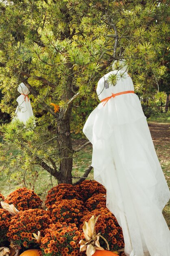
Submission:
[[[117,251],[120,248],[124,247],[124,239],[123,239],[123,233],[122,228],[119,226],[118,221],[116,220],[115,216],[107,209],[107,208],[101,208],[96,209],[86,216],[84,216],[81,219],[81,222],[84,223],[84,221],[89,221],[89,219],[94,215],[97,217],[100,214],[100,217],[98,218],[98,221],[96,222],[95,229],[96,233],[101,233],[101,235],[106,238],[107,242],[109,243],[110,249],[113,249],[114,251]],[[83,224],[80,225],[80,231],[82,232]],[[100,240],[100,246],[105,248],[105,241]]]

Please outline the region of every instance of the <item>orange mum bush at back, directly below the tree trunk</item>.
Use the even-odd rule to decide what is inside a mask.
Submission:
[[[48,191],[48,195],[45,201],[46,206],[57,204],[57,202],[63,199],[78,199],[82,200],[82,197],[76,191],[75,186],[71,184],[59,184],[54,186]]]

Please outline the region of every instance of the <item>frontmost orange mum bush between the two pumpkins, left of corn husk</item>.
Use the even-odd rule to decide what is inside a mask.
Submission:
[[[51,224],[41,238],[40,247],[44,255],[48,256],[83,256],[79,252],[81,233],[74,223],[67,225],[59,222]]]

